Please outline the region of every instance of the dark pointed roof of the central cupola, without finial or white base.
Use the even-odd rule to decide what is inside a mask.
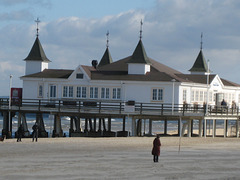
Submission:
[[[139,40],[138,45],[135,48],[128,63],[151,64],[141,39]]]

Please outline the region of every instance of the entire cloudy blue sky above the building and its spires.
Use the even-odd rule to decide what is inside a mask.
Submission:
[[[75,69],[100,60],[107,31],[113,61],[130,56],[142,19],[149,57],[189,73],[203,32],[212,72],[240,83],[239,0],[0,0],[0,95],[8,95],[10,74],[13,86],[22,86],[37,17],[49,68]]]

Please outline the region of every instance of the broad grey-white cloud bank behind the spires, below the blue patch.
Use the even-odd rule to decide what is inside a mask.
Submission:
[[[159,0],[149,10],[132,9],[100,18],[69,16],[43,21],[40,41],[52,61],[50,68],[75,69],[79,64],[90,65],[92,59],[101,59],[106,48],[105,34],[109,30],[110,52],[116,61],[132,54],[143,19],[143,43],[149,57],[188,73],[198,55],[203,32],[203,52],[205,58],[211,60],[211,69],[240,83],[237,78],[239,7],[238,0]],[[0,52],[4,52],[0,62],[9,62],[6,67],[17,66],[3,69],[1,65],[0,72],[12,70],[16,71],[15,77],[23,75],[25,62],[22,59],[28,55],[35,34],[34,23],[30,26],[10,24],[0,29]]]

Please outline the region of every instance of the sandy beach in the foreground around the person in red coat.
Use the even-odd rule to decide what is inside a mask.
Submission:
[[[0,143],[0,179],[240,179],[237,138],[154,137],[7,139]]]

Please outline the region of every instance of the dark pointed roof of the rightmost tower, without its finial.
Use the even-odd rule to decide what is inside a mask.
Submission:
[[[208,71],[207,63],[203,56],[202,50],[200,50],[196,61],[194,62],[192,68],[189,71],[190,72],[207,72]]]

